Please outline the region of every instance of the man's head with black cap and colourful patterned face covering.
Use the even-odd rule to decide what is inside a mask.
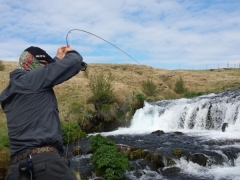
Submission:
[[[19,59],[19,68],[27,71],[55,62],[43,49],[31,46],[23,51]]]

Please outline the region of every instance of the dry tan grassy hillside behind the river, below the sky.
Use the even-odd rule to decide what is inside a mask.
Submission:
[[[14,70],[17,62],[3,62],[5,70],[0,71],[0,91],[8,84],[9,72]],[[118,98],[129,98],[133,92],[144,94],[142,82],[151,78],[157,85],[158,95],[151,99],[174,99],[180,95],[173,91],[174,84],[179,77],[184,80],[189,92],[222,92],[240,87],[240,69],[215,70],[166,70],[145,65],[133,64],[89,64],[88,77],[94,73],[111,72],[115,76],[114,92]],[[60,117],[63,117],[71,102],[87,104],[92,96],[88,87],[89,78],[86,73],[80,72],[72,79],[56,86],[55,92],[59,103]],[[0,120],[5,116],[0,109]]]

